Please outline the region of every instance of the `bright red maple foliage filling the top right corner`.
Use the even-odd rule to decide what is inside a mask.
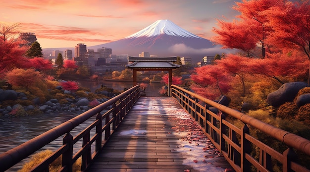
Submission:
[[[306,53],[310,59],[310,1],[281,1],[265,10],[267,26],[273,32],[267,37],[270,44]]]

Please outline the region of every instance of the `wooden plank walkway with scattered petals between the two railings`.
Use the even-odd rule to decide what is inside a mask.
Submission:
[[[89,172],[206,172],[206,168],[208,172],[224,172],[226,168],[232,169],[199,134],[193,122],[173,98],[141,97]],[[205,156],[197,157],[200,153],[195,150]]]

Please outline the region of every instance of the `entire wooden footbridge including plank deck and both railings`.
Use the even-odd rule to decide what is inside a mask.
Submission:
[[[60,156],[60,172],[72,172],[76,161],[81,161],[81,171],[89,172],[269,172],[275,164],[283,172],[310,172],[299,164],[295,153],[309,158],[309,140],[178,86],[172,85],[170,93],[171,97],[140,98],[140,87],[135,86],[1,154],[0,172],[59,137],[63,137],[63,145],[33,172],[49,172],[49,165]],[[225,119],[228,115],[244,126],[230,123]],[[94,121],[89,126],[71,135],[74,128],[91,118]],[[274,150],[251,136],[250,128],[284,143],[287,149]],[[82,146],[74,150],[79,141]],[[194,152],[199,147],[200,151]]]

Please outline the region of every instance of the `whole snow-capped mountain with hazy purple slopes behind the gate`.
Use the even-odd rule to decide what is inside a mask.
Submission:
[[[182,29],[170,20],[157,20],[128,37],[90,46],[87,49],[94,49],[97,52],[97,49],[102,47],[111,48],[113,55],[127,54],[138,57],[142,52],[149,52],[150,55],[157,57],[192,57],[193,63],[201,61],[205,56],[230,52],[230,50],[221,49],[222,46],[214,46],[211,41]]]

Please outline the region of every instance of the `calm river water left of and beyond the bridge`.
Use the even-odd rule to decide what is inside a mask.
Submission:
[[[115,90],[123,90],[124,88],[131,88],[132,82],[114,82],[114,81],[87,81],[79,80],[78,81],[82,87],[90,88],[92,92],[95,92],[96,89],[100,88],[103,84],[106,87],[113,88]],[[160,83],[150,83],[146,89],[146,96],[159,96],[158,90],[162,87],[163,84]],[[67,121],[79,114],[77,113],[57,113],[57,114],[48,114],[48,115],[33,115],[25,117],[16,117],[16,118],[2,118],[0,117],[0,154],[6,152],[46,131],[52,129],[53,127]],[[91,123],[86,121],[83,125],[87,126]],[[78,128],[75,133],[78,133],[82,130],[82,126]],[[72,133],[72,135],[74,135]],[[56,149],[59,145],[62,144],[62,138],[59,140],[53,141],[50,145],[47,145],[43,149]],[[82,144],[82,143],[80,143]],[[26,160],[25,160],[26,161]],[[21,168],[21,162],[8,170],[7,172],[15,172]]]

